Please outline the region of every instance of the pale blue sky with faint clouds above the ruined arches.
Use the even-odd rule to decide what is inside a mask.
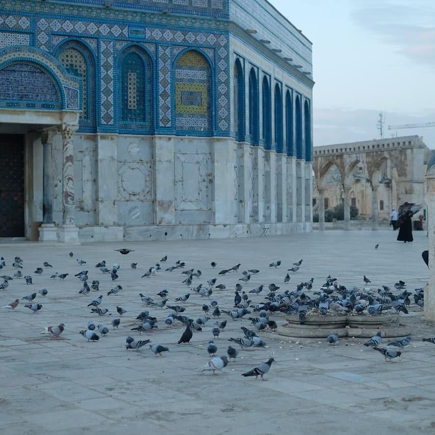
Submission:
[[[269,0],[313,43],[314,146],[435,122],[435,0]],[[435,127],[397,130],[435,148]]]

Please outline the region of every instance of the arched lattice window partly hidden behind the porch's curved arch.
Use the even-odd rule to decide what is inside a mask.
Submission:
[[[82,79],[82,113],[80,126],[95,125],[95,65],[88,48],[76,41],[69,41],[57,50],[57,57],[72,75]]]

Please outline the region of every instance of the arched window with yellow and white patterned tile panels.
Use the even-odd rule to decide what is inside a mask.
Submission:
[[[176,62],[175,118],[178,131],[212,130],[210,65],[196,50],[185,52]]]

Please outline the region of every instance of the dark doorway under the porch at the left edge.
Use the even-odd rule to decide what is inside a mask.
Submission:
[[[24,136],[0,135],[0,237],[24,237]]]

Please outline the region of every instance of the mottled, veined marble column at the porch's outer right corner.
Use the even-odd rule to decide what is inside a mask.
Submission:
[[[74,134],[78,125],[63,124],[63,223],[59,226],[60,242],[79,242],[79,229],[74,217]]]

